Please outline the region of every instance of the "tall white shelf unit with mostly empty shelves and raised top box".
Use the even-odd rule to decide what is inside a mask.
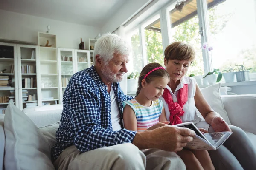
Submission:
[[[49,41],[48,45],[45,44]],[[38,32],[39,59],[37,59],[38,68],[38,105],[47,103],[59,104],[59,80],[58,80],[58,50],[56,35]],[[52,102],[54,101],[54,102]],[[55,102],[56,101],[56,102]],[[47,103],[46,103],[47,102]]]

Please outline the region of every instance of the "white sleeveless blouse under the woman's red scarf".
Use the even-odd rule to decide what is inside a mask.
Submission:
[[[167,85],[166,88],[170,91],[170,93],[172,95],[173,102],[177,102],[178,90],[183,88],[184,84],[188,84],[188,101],[183,106],[183,111],[185,113],[180,118],[181,118],[182,122],[190,122],[191,121],[194,124],[196,124],[196,123],[198,123],[198,122],[200,122],[201,120],[204,120],[204,119],[201,116],[201,113],[199,113],[199,111],[195,107],[195,99],[194,99],[195,89],[196,89],[195,79],[192,78],[192,77],[184,76],[180,80],[180,84],[177,86],[174,93],[172,93],[172,90],[168,85]],[[169,111],[168,105],[165,102],[165,100],[163,99],[163,97],[160,97],[160,99],[163,101],[163,107],[164,107],[165,112],[166,112],[166,118],[169,121],[170,111]],[[200,125],[200,127],[208,129],[209,124],[207,124],[205,121],[203,121],[202,123],[203,123],[203,125]]]

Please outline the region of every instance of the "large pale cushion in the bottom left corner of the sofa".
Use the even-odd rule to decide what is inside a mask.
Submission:
[[[12,101],[4,118],[4,164],[8,170],[54,170],[47,138]]]

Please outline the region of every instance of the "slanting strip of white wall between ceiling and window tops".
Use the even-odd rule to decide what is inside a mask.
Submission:
[[[126,0],[126,2],[119,8],[118,11],[115,11],[113,16],[108,20],[108,22],[102,27],[101,33],[113,32],[118,28],[122,23],[131,18],[134,13],[140,11],[152,0]]]

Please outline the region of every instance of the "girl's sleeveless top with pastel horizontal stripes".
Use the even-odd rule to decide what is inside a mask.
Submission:
[[[144,131],[159,122],[159,116],[162,113],[163,102],[159,99],[153,101],[151,106],[140,105],[135,99],[123,102],[123,105],[129,105],[134,110],[137,119],[137,131]]]

